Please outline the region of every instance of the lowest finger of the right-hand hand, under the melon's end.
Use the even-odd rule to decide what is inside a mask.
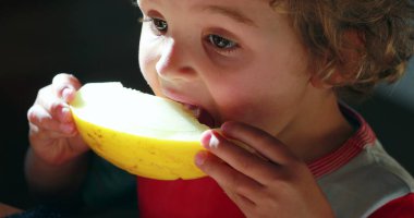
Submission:
[[[215,155],[203,150],[195,157],[195,164],[216,182],[231,193],[254,196],[263,187],[261,184],[234,170]]]

